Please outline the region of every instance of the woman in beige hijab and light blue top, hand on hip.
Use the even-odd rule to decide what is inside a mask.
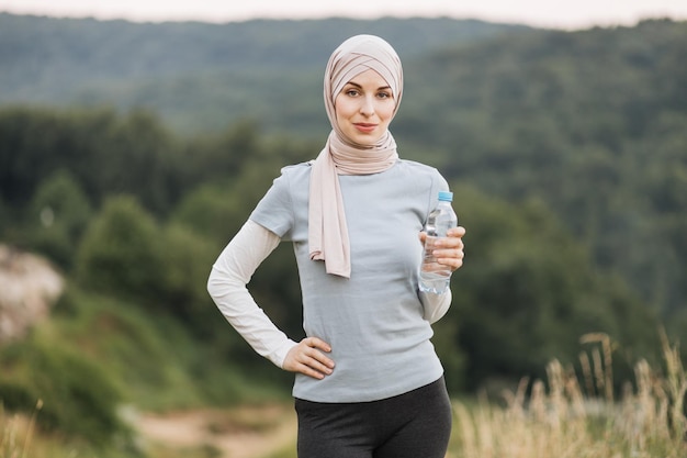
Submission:
[[[395,51],[358,35],[331,55],[333,126],[317,159],[282,169],[213,266],[209,291],[260,355],[295,372],[301,458],[443,458],[451,406],[430,324],[450,291],[418,290],[421,233],[447,181],[402,160],[388,131],[403,93]],[[457,227],[435,255],[462,265]],[[418,236],[419,234],[419,236]],[[418,241],[419,238],[419,241]],[[246,284],[280,241],[294,246],[306,338],[291,340]]]

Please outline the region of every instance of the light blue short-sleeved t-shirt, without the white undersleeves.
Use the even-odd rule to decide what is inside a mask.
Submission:
[[[296,375],[295,398],[367,402],[431,383],[443,373],[423,319],[418,269],[423,230],[439,191],[437,169],[398,160],[381,174],[339,176],[351,254],[351,277],[325,272],[307,244],[309,164],[285,167],[250,215],[292,241],[307,336],[331,345],[334,373],[324,380]]]

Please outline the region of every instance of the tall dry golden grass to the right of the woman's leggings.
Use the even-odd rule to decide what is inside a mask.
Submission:
[[[506,406],[486,400],[476,406],[457,402],[450,457],[686,457],[687,377],[677,347],[664,335],[664,373],[640,360],[634,382],[627,382],[616,399],[608,336],[590,334],[583,342],[598,345],[590,359],[581,356],[582,383],[573,369],[553,360],[547,383],[537,380],[527,393],[529,382],[523,380],[506,393]]]

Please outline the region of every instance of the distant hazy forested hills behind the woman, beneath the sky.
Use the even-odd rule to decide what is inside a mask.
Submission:
[[[248,119],[262,133],[319,144],[328,131],[322,67],[354,33],[380,34],[402,55],[406,97],[392,129],[405,157],[511,201],[542,199],[600,268],[663,313],[684,309],[685,22],[561,32],[450,19],[138,24],[0,14],[0,102],[144,107],[180,136]],[[46,170],[22,180],[8,160],[0,187],[10,202],[59,166],[54,154],[36,157]],[[105,192],[97,188],[106,180],[83,180],[90,194]]]

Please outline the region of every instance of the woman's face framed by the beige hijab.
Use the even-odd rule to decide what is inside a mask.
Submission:
[[[373,145],[386,133],[396,99],[380,74],[365,70],[344,86],[334,104],[344,135],[357,144]]]

